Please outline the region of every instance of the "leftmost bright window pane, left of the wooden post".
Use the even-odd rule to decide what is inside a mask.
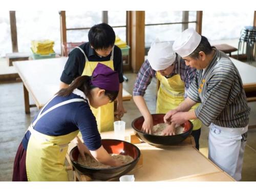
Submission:
[[[9,11],[0,11],[0,29],[0,57],[5,57],[12,52]]]

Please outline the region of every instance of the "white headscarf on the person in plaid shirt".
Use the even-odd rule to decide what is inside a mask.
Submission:
[[[147,60],[155,71],[165,70],[173,65],[175,59],[176,54],[173,51],[172,41],[160,42],[159,39],[156,39],[147,53]]]

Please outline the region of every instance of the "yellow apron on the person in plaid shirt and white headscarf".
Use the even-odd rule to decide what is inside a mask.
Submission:
[[[180,74],[180,57],[178,57],[178,69]],[[167,113],[169,110],[176,109],[177,106],[184,101],[185,83],[181,80],[179,74],[166,78],[159,72],[156,78],[160,81],[160,87],[157,94],[156,113]],[[196,109],[199,103],[194,105],[191,110]],[[193,130],[198,130],[202,126],[199,119],[191,120],[194,125]]]

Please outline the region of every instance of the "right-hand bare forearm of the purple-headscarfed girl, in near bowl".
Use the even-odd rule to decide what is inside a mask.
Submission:
[[[115,160],[106,152],[102,145],[97,150],[90,152],[98,162],[111,166],[115,165]]]

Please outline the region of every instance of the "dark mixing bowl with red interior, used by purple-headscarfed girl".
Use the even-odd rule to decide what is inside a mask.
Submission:
[[[90,176],[92,179],[96,180],[108,180],[115,177],[120,177],[132,170],[140,158],[140,150],[137,146],[132,143],[121,141],[117,139],[102,139],[101,143],[105,150],[109,154],[121,154],[130,155],[134,160],[128,164],[111,167],[111,168],[91,168],[78,164],[79,151],[77,146],[75,146],[69,154],[70,160],[73,166],[79,170],[80,173]]]

